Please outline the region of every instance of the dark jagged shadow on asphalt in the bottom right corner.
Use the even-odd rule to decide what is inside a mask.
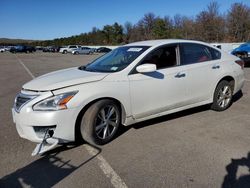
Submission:
[[[237,178],[238,168],[247,167],[250,172],[250,152],[247,157],[241,159],[231,159],[231,163],[226,166],[227,175],[224,177],[222,188],[249,188],[250,173]]]

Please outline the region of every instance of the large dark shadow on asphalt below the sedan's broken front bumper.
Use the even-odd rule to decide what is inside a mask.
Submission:
[[[70,160],[64,161],[58,156],[59,153],[78,146],[68,147],[63,145],[46,152],[40,159],[2,177],[0,179],[0,187],[44,188],[56,185],[101,153],[101,149],[98,149],[96,155],[82,161],[77,166],[72,165]]]

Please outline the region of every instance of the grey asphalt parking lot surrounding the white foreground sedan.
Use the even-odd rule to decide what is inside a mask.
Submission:
[[[11,108],[24,83],[98,57],[0,54],[0,187],[250,187],[250,68],[243,95],[224,112],[208,106],[124,127],[111,143],[59,146],[31,157]]]

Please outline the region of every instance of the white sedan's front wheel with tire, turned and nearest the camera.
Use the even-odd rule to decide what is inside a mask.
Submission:
[[[91,105],[83,115],[81,136],[92,145],[104,145],[114,138],[120,123],[119,106],[109,99],[100,100]]]

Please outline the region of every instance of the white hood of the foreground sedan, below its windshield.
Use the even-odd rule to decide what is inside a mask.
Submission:
[[[87,72],[77,67],[51,72],[23,85],[23,89],[48,91],[102,80],[108,73]]]

